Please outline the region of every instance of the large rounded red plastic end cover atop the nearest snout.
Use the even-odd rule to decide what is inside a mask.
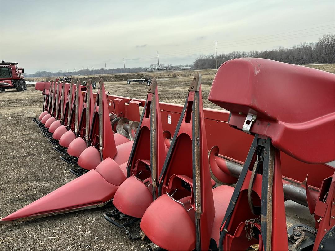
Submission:
[[[209,100],[231,111],[242,129],[257,115],[252,133],[307,163],[335,159],[335,75],[267,59],[227,61],[217,71]]]

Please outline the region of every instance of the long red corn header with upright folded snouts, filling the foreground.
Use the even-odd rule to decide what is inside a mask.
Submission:
[[[203,108],[200,74],[184,105],[159,102],[156,79],[146,100],[106,94],[102,80],[97,93],[78,87],[37,83],[45,102],[34,120],[63,154],[72,144],[63,137],[81,142],[66,159],[79,177],[1,224],[110,205],[105,219],[129,239],[143,236],[132,230],[140,222],[152,249],[334,250],[334,74],[230,60],[208,98],[225,110]],[[287,200],[307,207],[314,224],[287,229]]]

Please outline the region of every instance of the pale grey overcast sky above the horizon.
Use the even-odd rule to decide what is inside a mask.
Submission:
[[[335,1],[0,0],[0,58],[27,73],[190,64],[335,32]],[[284,33],[284,34],[282,34]]]

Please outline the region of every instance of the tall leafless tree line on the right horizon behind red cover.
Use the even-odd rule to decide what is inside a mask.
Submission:
[[[265,58],[280,62],[304,65],[335,63],[335,34],[324,34],[316,43],[301,43],[292,48],[278,48],[267,51],[233,51],[217,56],[217,65],[235,58]],[[195,69],[215,69],[215,55],[201,55],[194,64]]]

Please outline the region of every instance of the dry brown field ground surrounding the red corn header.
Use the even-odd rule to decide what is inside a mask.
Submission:
[[[324,70],[334,72],[334,65],[327,66]],[[160,101],[183,104],[196,72],[182,73],[185,75],[176,77],[169,75],[170,73],[143,74],[158,78]],[[204,107],[219,108],[207,100],[215,70],[201,73]],[[143,99],[146,97],[146,84],[127,85],[126,76],[122,80],[120,77],[109,76],[102,77],[106,77],[105,88],[111,94]],[[0,127],[3,132],[0,135],[0,217],[7,216],[75,178],[68,170],[69,165],[60,160],[60,154],[52,149],[47,138],[31,121],[42,112],[42,105],[43,95],[34,87],[28,87],[25,92],[13,89],[0,93]],[[306,207],[298,207],[289,201],[286,203],[288,226],[295,224],[297,210],[313,222]],[[124,230],[103,218],[102,213],[108,212],[110,208],[105,206],[1,225],[0,250],[146,250],[145,247],[150,242],[148,239],[129,241]],[[313,224],[308,221],[303,223]]]

